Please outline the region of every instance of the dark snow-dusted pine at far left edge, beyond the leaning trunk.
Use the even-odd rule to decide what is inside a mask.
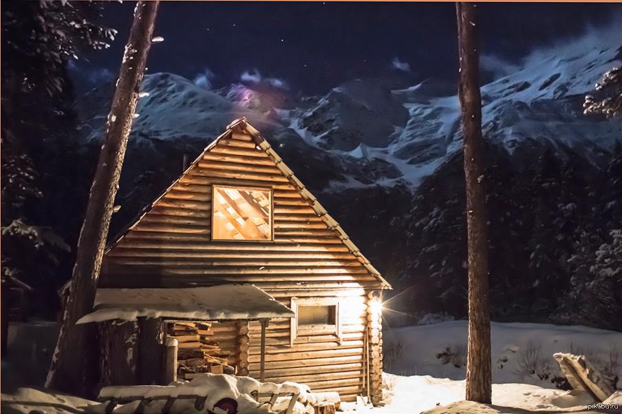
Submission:
[[[36,287],[35,311],[54,305],[49,292],[69,256],[59,228],[77,215],[66,206],[61,215],[50,213],[76,191],[71,175],[62,174],[76,165],[69,159],[76,151],[76,120],[67,63],[83,48],[101,49],[114,38],[114,30],[91,23],[96,8],[87,2],[2,4],[2,279],[19,276]]]

